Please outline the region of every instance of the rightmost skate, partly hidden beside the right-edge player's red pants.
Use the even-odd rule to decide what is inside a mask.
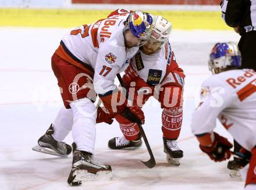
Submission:
[[[239,169],[241,168],[241,162],[239,158],[234,157],[233,160],[229,160],[227,163],[227,169],[229,170],[229,176],[242,181],[242,177]]]

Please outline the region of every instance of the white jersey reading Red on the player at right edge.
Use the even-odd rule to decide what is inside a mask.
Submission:
[[[211,133],[216,118],[248,151],[256,145],[256,72],[230,70],[202,83],[201,103],[195,109],[191,130]]]

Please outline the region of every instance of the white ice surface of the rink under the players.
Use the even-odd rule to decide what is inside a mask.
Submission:
[[[183,126],[179,146],[184,151],[180,166],[166,162],[163,153],[161,108],[150,99],[143,108],[144,130],[157,166],[148,169],[145,145],[136,150],[113,151],[108,140],[121,134],[116,122],[98,124],[95,156],[112,166],[110,180],[87,181],[70,187],[67,176],[72,156],[58,158],[31,150],[48,129],[62,107],[51,56],[69,30],[45,28],[0,28],[0,189],[243,189],[244,182],[233,180],[227,162],[215,163],[202,154],[190,131],[191,112],[197,104],[198,89],[208,71],[208,53],[215,42],[239,41],[233,31],[179,31],[171,36],[172,47],[184,69]],[[218,123],[216,131],[232,138]],[[72,136],[65,140],[72,143]]]

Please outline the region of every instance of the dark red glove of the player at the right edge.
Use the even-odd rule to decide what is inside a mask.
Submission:
[[[214,160],[214,162],[221,162],[230,158],[230,148],[232,148],[233,145],[226,138],[220,136],[218,133],[214,133],[214,142],[212,142],[211,147],[205,147],[201,144],[199,147],[202,152],[208,154],[209,158]]]

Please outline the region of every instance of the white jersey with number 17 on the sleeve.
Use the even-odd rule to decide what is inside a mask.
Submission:
[[[125,47],[124,22],[128,16],[129,13],[123,13],[82,25],[65,35],[62,49],[56,50],[62,58],[69,56],[69,62],[73,60],[74,64],[83,64],[94,71],[94,89],[98,94],[116,89],[116,74],[128,67],[128,60],[138,50],[138,47]]]

